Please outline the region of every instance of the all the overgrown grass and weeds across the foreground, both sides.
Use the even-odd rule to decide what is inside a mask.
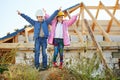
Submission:
[[[14,61],[16,51],[16,49],[13,49],[10,53],[0,58],[0,62],[2,62],[0,64],[2,77],[6,80],[41,80],[40,72],[27,64],[26,55],[24,55],[26,64],[11,64]],[[117,80],[109,69],[104,67],[100,69],[100,64],[102,63],[96,53],[91,58],[71,57],[68,62],[64,61],[64,68],[62,70],[50,69],[51,73],[46,80]],[[31,63],[33,64],[33,61]],[[51,68],[51,66],[52,62],[49,60],[49,67]]]

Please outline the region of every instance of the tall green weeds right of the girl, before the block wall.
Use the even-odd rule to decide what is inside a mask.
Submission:
[[[76,59],[75,62],[70,60],[69,63],[71,64],[65,67],[75,77],[75,80],[117,80],[117,77],[109,69],[105,69],[104,66],[100,68],[102,63],[96,53],[92,58],[82,57]]]

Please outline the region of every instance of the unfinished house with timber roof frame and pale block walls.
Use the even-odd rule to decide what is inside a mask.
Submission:
[[[71,14],[75,11],[80,12],[76,23],[69,27],[71,45],[65,47],[65,55],[87,56],[98,51],[104,66],[119,68],[117,63],[120,59],[120,21],[115,16],[118,10],[120,10],[119,0],[116,0],[114,6],[104,5],[101,1],[98,6],[87,6],[81,2],[65,9],[65,17],[68,18],[71,18]],[[92,11],[96,12],[93,14]],[[110,19],[98,20],[98,16],[102,15],[100,11],[105,11]],[[90,19],[85,18],[85,14]],[[33,33],[34,28],[26,25],[24,28],[16,29],[15,32],[0,38],[0,56],[13,48],[18,49],[17,54],[19,55],[22,53],[33,55]],[[48,45],[47,51],[48,55],[52,55],[53,46]],[[86,51],[91,54],[86,55]],[[16,57],[13,63],[18,63],[21,59]]]

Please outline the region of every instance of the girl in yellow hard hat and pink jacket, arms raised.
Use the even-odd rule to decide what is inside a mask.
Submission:
[[[73,16],[70,20],[64,20],[64,13],[60,11],[57,17],[52,21],[51,32],[48,37],[48,43],[54,45],[53,66],[58,67],[56,58],[58,53],[60,55],[59,68],[63,67],[63,51],[64,46],[70,45],[70,38],[68,34],[68,27],[71,26],[77,19],[79,14]],[[46,15],[48,17],[48,15]]]

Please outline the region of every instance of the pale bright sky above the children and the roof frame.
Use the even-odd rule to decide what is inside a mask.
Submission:
[[[35,12],[44,8],[48,14],[52,14],[61,6],[62,9],[69,8],[77,3],[84,2],[85,5],[98,5],[102,1],[104,5],[114,5],[116,0],[0,0],[0,37],[15,29],[21,29],[29,23],[17,14],[17,10],[25,13],[36,20]],[[95,11],[93,11],[93,14]],[[118,16],[118,15],[116,15]],[[107,18],[100,17],[100,19]]]

